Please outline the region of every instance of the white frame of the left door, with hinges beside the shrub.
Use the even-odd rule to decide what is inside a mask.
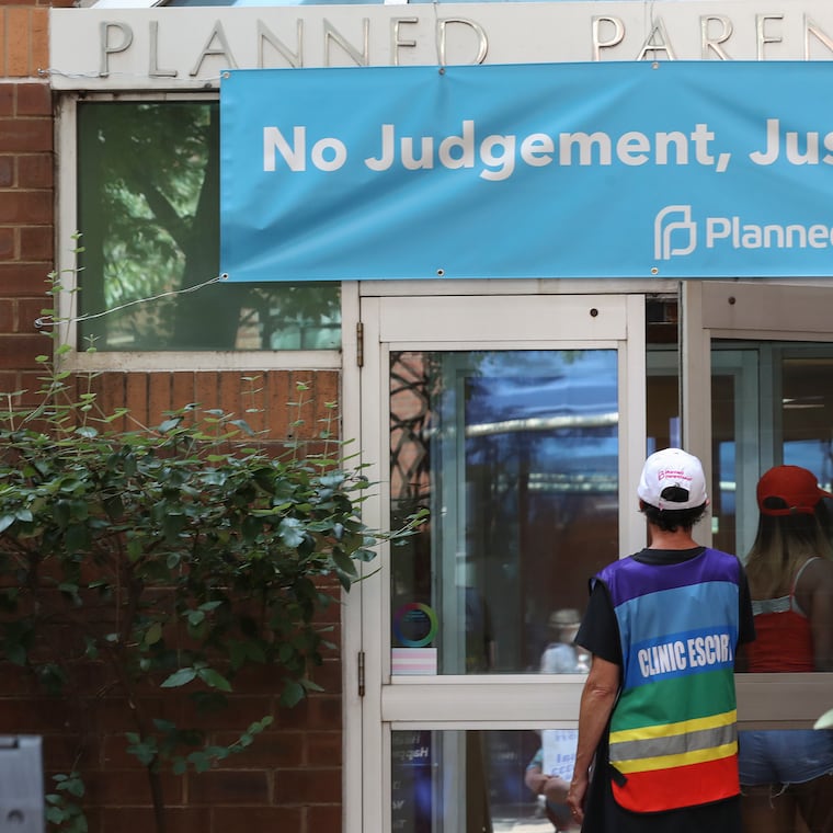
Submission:
[[[605,282],[604,292],[601,285],[589,292],[587,282],[570,282],[569,293],[564,282],[549,282],[549,293],[540,292],[547,282],[471,283],[475,286],[469,285],[466,293],[457,288],[456,294],[445,284],[438,295],[422,286],[422,292],[406,292],[414,288],[412,284],[343,287],[343,435],[361,437],[367,477],[378,483],[377,494],[363,506],[367,523],[384,526],[384,510],[389,505],[385,366],[389,345],[397,350],[615,346],[620,380],[619,546],[623,552],[643,546],[644,524],[634,503],[646,436],[643,292],[635,290],[632,284],[621,292],[624,285],[618,282]],[[657,292],[655,284],[651,287]],[[560,315],[557,328],[555,313]],[[593,334],[607,327],[600,322],[614,316],[618,321],[607,338]],[[559,338],[554,338],[554,331]],[[389,831],[391,729],[575,728],[584,680],[581,675],[556,680],[523,674],[491,680],[391,677],[389,628],[384,626],[389,621],[384,590],[388,573],[379,570],[379,563],[383,568],[386,563],[385,547],[379,555],[381,561],[363,566],[363,579],[343,608],[344,833]],[[505,717],[507,703],[523,704],[518,709],[523,719]],[[564,717],[554,720],[554,714]]]

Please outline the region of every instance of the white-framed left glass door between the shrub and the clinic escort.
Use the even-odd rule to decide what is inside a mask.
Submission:
[[[525,778],[569,779],[587,580],[644,543],[643,308],[363,299],[368,510],[430,513],[363,582],[365,831],[552,829]]]

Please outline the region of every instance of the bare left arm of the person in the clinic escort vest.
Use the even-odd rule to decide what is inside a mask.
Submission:
[[[590,767],[611,718],[618,691],[619,666],[594,654],[581,693],[579,745],[575,751],[573,777],[567,794],[570,812],[579,824],[584,821],[584,800],[590,784]]]

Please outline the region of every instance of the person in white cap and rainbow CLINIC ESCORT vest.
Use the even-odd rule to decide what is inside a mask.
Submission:
[[[651,455],[637,489],[646,549],[591,580],[592,654],[568,806],[583,833],[738,833],[734,658],[755,638],[743,567],[698,546],[700,461]]]

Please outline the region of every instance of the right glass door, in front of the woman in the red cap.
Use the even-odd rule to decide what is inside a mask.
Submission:
[[[833,779],[826,775],[833,734],[813,724],[831,707],[833,673],[823,651],[815,653],[815,641],[825,644],[833,600],[823,582],[802,589],[802,561],[786,560],[780,538],[768,549],[767,544],[761,547],[771,556],[768,572],[749,555],[758,530],[756,487],[765,471],[799,466],[824,490],[833,487],[833,333],[828,312],[833,289],[792,282],[700,282],[685,293],[689,351],[706,357],[688,366],[685,381],[695,391],[689,400],[699,400],[700,410],[711,415],[696,431],[698,450],[712,472],[714,540],[748,563],[758,603],[756,623],[764,623],[757,625],[758,650],[771,658],[766,673],[740,673],[735,680],[744,828],[821,830],[830,825],[833,807]],[[826,516],[820,515],[828,545],[813,539],[800,550],[805,563],[831,558],[831,503],[822,501]],[[761,541],[766,541],[765,534]],[[803,620],[799,629],[809,636],[810,662],[790,661],[800,640],[795,632],[786,636],[788,626],[777,618],[785,611],[795,621]],[[821,752],[812,751],[817,743]],[[762,767],[764,755],[771,768]],[[808,763],[819,764],[819,769],[797,771]],[[823,810],[826,821],[813,819],[812,808]]]

